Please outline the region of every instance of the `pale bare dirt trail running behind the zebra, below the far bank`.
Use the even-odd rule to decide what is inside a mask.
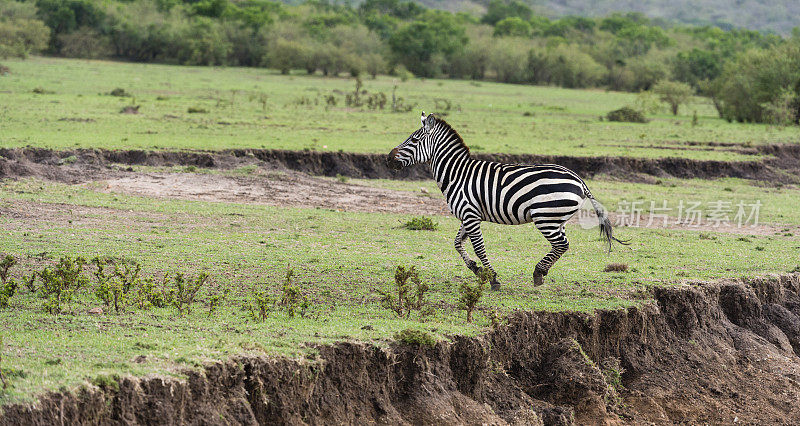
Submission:
[[[421,192],[342,183],[297,172],[265,173],[262,176],[251,177],[194,173],[128,173],[123,177],[92,183],[90,186],[106,192],[183,200],[319,207],[340,211],[408,215],[450,214],[446,202],[435,187],[429,189],[432,194],[426,195]],[[612,223],[620,222],[615,213],[610,213],[609,216]],[[572,224],[577,222],[577,217],[570,221]],[[636,227],[741,235],[775,235],[786,232],[800,234],[800,226],[782,224],[743,227],[732,223],[720,226],[708,223],[689,225],[675,223],[672,219],[667,226],[663,226],[663,220],[648,224],[646,215]]]

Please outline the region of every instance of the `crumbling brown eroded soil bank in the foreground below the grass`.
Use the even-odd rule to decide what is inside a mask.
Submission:
[[[800,422],[800,275],[655,287],[627,310],[517,313],[434,347],[339,343],[125,378],[0,424]]]

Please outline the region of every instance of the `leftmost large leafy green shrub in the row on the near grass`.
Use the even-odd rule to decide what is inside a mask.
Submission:
[[[69,303],[78,290],[89,284],[89,279],[83,275],[86,263],[83,257],[65,256],[54,268],[46,267],[38,273],[42,283],[39,292],[47,299],[47,312],[60,313],[61,304]]]

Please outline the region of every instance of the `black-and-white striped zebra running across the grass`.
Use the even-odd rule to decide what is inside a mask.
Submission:
[[[499,290],[481,234],[481,222],[506,225],[533,222],[550,242],[551,250],[536,264],[534,285],[543,284],[553,264],[569,249],[564,224],[588,198],[600,221],[600,233],[611,250],[614,237],[603,206],[575,172],[556,164],[518,165],[475,160],[461,136],[433,114],[420,118],[422,127],[392,149],[387,165],[400,170],[428,163],[450,212],[461,226],[454,241],[456,251],[476,275],[481,268],[464,250],[469,238],[483,268],[488,269],[492,290]]]

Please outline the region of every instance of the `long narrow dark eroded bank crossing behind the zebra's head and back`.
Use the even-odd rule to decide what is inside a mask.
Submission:
[[[620,179],[653,177],[722,178],[736,177],[774,183],[800,181],[800,145],[768,145],[752,149],[767,155],[757,161],[700,161],[682,158],[642,159],[629,157],[571,157],[521,154],[474,154],[475,158],[518,164],[555,163],[584,177],[604,173]],[[93,150],[51,151],[42,148],[0,149],[0,178],[42,176],[69,181],[80,176],[79,169],[101,171],[109,164],[147,166],[197,166],[233,168],[245,164],[269,164],[312,175],[358,178],[425,179],[429,171],[413,166],[390,170],[382,154],[345,152],[224,150],[224,151],[138,151]],[[58,165],[82,167],[59,168]]]

